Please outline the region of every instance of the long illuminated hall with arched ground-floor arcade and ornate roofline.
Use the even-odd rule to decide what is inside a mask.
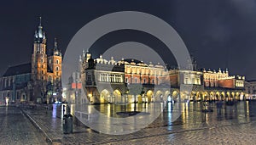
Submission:
[[[195,62],[195,61],[193,61]],[[228,70],[167,69],[133,59],[116,61],[92,59],[83,52],[79,59],[81,81],[90,103],[150,103],[164,100],[242,100],[243,76],[230,76]],[[180,87],[191,86],[191,92]]]

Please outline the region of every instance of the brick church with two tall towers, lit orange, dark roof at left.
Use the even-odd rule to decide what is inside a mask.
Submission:
[[[9,67],[0,78],[0,101],[53,103],[61,100],[61,52],[56,39],[46,48],[46,36],[40,23],[35,31],[32,61]],[[48,54],[47,54],[48,53]]]

